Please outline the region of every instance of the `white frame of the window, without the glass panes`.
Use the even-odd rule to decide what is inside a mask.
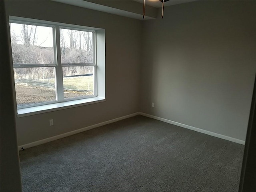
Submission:
[[[53,40],[54,40],[54,64],[13,64],[13,68],[24,68],[24,67],[54,67],[55,68],[55,80],[56,80],[56,101],[52,102],[42,102],[39,104],[28,104],[26,106],[17,106],[18,117],[28,116],[33,114],[40,114],[43,112],[59,110],[59,108],[71,108],[75,106],[87,105],[92,103],[98,103],[106,101],[105,98],[105,30],[100,28],[85,27],[73,24],[64,24],[59,22],[50,22],[44,20],[35,20],[31,18],[21,18],[16,16],[9,16],[9,22],[18,24],[30,24],[37,26],[47,26],[53,28]],[[81,30],[86,32],[93,32],[93,63],[88,64],[65,64],[61,63],[61,52],[60,52],[60,28],[70,29],[70,30]],[[100,41],[97,42],[97,30],[100,34]],[[103,42],[104,41],[104,42]],[[10,43],[10,42],[9,42]],[[101,77],[99,78],[97,74],[97,56],[98,50],[97,45],[100,45],[100,63],[101,63]],[[12,51],[10,49],[10,51]],[[12,56],[12,54],[10,54]],[[11,58],[12,59],[12,58]],[[94,66],[94,94],[90,96],[81,96],[76,98],[64,99],[63,90],[63,67],[70,66]],[[13,76],[13,75],[12,75]],[[98,80],[100,79],[100,95],[98,95]],[[14,84],[14,76],[13,76]],[[14,92],[14,98],[16,98],[16,93]],[[15,101],[16,102],[16,101]]]

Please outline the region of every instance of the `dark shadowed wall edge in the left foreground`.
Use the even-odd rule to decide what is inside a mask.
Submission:
[[[0,129],[0,191],[21,192],[20,164],[15,125],[14,100],[12,98],[12,80],[10,52],[8,51],[8,22],[5,14],[4,1],[0,2],[1,13],[1,129]],[[11,141],[11,142],[10,142]]]

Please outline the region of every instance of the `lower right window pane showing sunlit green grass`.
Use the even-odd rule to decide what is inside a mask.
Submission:
[[[63,67],[64,98],[94,94],[94,66]]]

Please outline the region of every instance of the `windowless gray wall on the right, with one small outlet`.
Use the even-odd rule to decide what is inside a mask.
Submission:
[[[256,1],[198,1],[143,22],[141,112],[245,140],[255,10]]]

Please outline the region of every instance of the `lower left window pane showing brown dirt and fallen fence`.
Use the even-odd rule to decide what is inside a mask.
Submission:
[[[56,100],[54,67],[14,68],[17,106]]]

